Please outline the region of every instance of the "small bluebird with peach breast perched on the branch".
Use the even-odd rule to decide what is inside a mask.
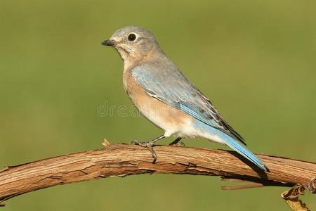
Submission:
[[[122,27],[102,45],[114,47],[121,56],[124,89],[133,104],[147,120],[164,130],[162,136],[151,141],[133,141],[150,150],[153,162],[157,160],[157,141],[176,136],[171,143],[176,145],[183,138],[199,137],[223,143],[261,170],[269,171],[246,148],[242,136],[223,119],[209,98],[166,56],[150,30]]]

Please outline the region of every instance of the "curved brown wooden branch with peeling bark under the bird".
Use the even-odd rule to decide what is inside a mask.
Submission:
[[[154,149],[157,153],[154,164],[147,148],[117,144],[5,167],[0,170],[0,202],[59,184],[153,173],[221,176],[256,182],[254,186],[302,184],[315,191],[315,181],[312,181],[316,176],[315,162],[258,155],[270,169],[263,172],[232,151],[183,146],[155,146]]]

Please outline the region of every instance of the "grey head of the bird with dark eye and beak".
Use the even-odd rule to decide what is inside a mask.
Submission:
[[[103,41],[102,44],[117,49],[124,61],[140,60],[152,50],[161,51],[152,32],[134,26],[117,30],[110,39]]]

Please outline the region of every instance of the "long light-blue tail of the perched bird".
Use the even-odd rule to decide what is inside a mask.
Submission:
[[[259,160],[259,158],[254,155],[254,153],[251,153],[251,151],[249,151],[246,146],[244,146],[244,144],[240,143],[239,141],[235,140],[234,138],[232,138],[231,136],[229,136],[228,134],[225,134],[224,132],[219,131],[216,128],[210,127],[209,125],[206,125],[202,122],[197,123],[199,125],[199,128],[202,129],[201,127],[203,127],[203,130],[207,130],[210,134],[212,135],[217,135],[220,137],[220,139],[230,148],[232,148],[233,150],[237,151],[237,153],[239,153],[240,155],[242,155],[244,158],[250,160],[251,162],[253,162],[255,165],[257,165],[258,167],[261,168],[261,170],[264,170],[265,172],[268,172],[268,167],[266,167],[263,162],[261,160]]]

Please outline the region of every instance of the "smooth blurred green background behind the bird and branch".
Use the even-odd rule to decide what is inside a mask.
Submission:
[[[123,64],[100,45],[126,25],[154,32],[255,153],[315,162],[316,1],[0,1],[0,166],[149,140]],[[169,143],[172,139],[162,141]],[[225,148],[206,140],[186,146]],[[287,188],[221,191],[218,177],[138,175],[55,186],[4,210],[287,210]],[[312,210],[315,196],[303,196]]]

